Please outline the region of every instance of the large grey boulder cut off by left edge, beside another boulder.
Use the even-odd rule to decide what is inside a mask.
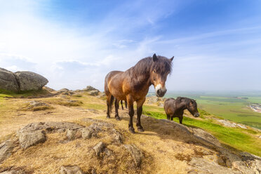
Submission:
[[[13,72],[9,72],[4,68],[0,68],[0,88],[8,91],[19,91],[18,82]]]

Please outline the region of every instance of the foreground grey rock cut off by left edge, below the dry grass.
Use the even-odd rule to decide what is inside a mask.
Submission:
[[[11,140],[7,140],[0,144],[0,163],[11,156],[14,148],[15,142]]]

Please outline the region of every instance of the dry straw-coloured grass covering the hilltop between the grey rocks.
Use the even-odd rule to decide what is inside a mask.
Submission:
[[[6,159],[0,167],[21,167],[27,171],[34,171],[34,173],[58,173],[60,166],[67,165],[77,165],[85,172],[91,172],[91,169],[95,168],[97,173],[187,173],[188,156],[198,155],[194,152],[194,148],[199,149],[199,151],[211,151],[206,147],[192,146],[183,142],[176,137],[175,134],[177,133],[172,131],[168,125],[162,126],[155,119],[142,118],[142,126],[145,128],[145,132],[131,134],[128,132],[126,109],[123,111],[119,109],[121,121],[106,119],[104,100],[85,93],[80,95],[81,97],[41,98],[41,101],[48,103],[53,109],[37,112],[18,109],[23,107],[29,99],[0,100],[0,141],[10,138],[27,123],[72,121],[83,126],[89,126],[90,123],[83,122],[81,119],[86,117],[101,119],[114,123],[115,128],[123,134],[124,144],[135,144],[142,150],[144,157],[141,168],[135,167],[131,154],[125,148],[121,145],[111,144],[112,140],[107,133],[100,136],[102,136],[101,140],[105,142],[107,148],[112,150],[112,156],[105,156],[105,154],[102,154],[100,158],[95,156],[92,148],[100,142],[98,138],[61,143],[65,138],[65,133],[53,133],[47,135],[47,141],[43,144],[25,150],[19,149],[18,152]],[[76,107],[60,104],[60,102],[67,100],[77,100],[82,103]],[[97,109],[99,114],[94,114],[86,109]],[[113,117],[114,115],[112,115]],[[183,156],[180,156],[181,153]]]

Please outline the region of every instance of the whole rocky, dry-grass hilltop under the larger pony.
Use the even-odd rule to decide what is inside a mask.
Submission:
[[[142,115],[145,132],[129,133],[127,110],[106,119],[95,88],[50,93],[0,100],[0,173],[261,173],[260,157],[200,128]]]

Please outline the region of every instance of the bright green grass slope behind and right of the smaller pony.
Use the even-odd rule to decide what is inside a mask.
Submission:
[[[166,119],[166,114],[161,112],[153,112],[148,108],[144,109],[143,114],[152,116],[155,119]],[[178,118],[174,118],[178,122]],[[214,135],[220,142],[243,152],[249,152],[257,156],[261,156],[261,141],[256,138],[256,131],[244,130],[241,128],[227,128],[213,123],[212,119],[191,119],[184,116],[183,123],[189,127],[202,128]]]

